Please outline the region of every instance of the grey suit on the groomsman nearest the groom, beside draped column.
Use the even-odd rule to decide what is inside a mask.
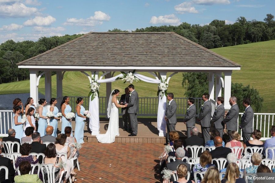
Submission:
[[[166,118],[168,119],[166,121],[166,127],[167,127],[167,141],[170,142],[170,138],[169,138],[169,132],[170,131],[176,131],[175,127],[177,124],[177,117],[176,117],[176,111],[177,111],[177,103],[172,100],[170,105],[169,103],[167,103],[167,107],[166,107]]]

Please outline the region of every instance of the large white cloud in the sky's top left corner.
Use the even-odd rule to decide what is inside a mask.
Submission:
[[[27,7],[23,3],[0,6],[0,17],[27,17],[37,13],[36,8]]]

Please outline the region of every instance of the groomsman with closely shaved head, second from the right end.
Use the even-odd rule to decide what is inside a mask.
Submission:
[[[224,118],[223,122],[226,123],[226,129],[228,134],[230,131],[237,131],[238,128],[238,117],[240,109],[237,105],[237,98],[232,96],[229,99],[229,104],[231,105],[230,110],[227,112],[226,117]]]

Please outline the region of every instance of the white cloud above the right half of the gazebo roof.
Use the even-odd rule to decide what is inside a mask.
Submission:
[[[152,16],[150,23],[152,24],[169,24],[169,25],[179,25],[181,20],[178,19],[174,14],[164,15],[164,16]]]

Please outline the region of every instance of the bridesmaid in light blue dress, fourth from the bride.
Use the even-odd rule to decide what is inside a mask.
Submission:
[[[46,134],[47,119],[46,117],[47,110],[45,108],[47,102],[46,99],[39,99],[38,103],[40,104],[38,108],[39,120],[38,120],[38,129],[37,132],[40,133],[40,136],[43,137]]]

